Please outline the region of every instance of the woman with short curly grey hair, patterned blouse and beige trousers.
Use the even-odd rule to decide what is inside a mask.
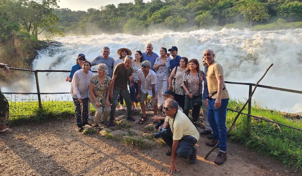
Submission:
[[[108,67],[105,63],[97,65],[97,75],[90,79],[90,95],[89,100],[96,109],[96,115],[94,117],[95,125],[94,129],[100,131],[100,123],[105,123],[111,112],[111,106],[109,102],[109,93],[111,88],[111,78],[108,76]],[[104,108],[104,113],[103,109]]]

